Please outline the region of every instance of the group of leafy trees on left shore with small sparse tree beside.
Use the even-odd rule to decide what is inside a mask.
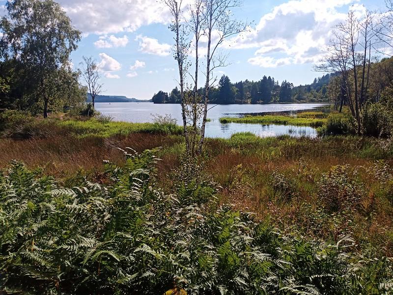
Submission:
[[[94,59],[74,70],[70,54],[81,31],[54,0],[14,0],[0,20],[0,109],[48,112],[85,108],[102,92]],[[82,85],[81,78],[86,83]]]

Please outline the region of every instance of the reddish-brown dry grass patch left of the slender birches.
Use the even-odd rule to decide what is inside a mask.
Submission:
[[[102,161],[120,163],[124,157],[118,148],[143,151],[168,147],[179,139],[164,135],[135,133],[112,138],[76,138],[70,134],[27,140],[0,139],[0,167],[11,160],[26,163],[30,168],[45,167],[45,172],[56,176],[70,176],[78,170],[101,170]]]

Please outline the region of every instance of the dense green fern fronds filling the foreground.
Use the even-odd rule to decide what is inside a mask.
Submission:
[[[82,178],[61,187],[11,163],[0,175],[1,290],[163,294],[175,281],[191,295],[393,291],[391,259],[358,256],[346,236],[328,244],[283,235],[219,206],[193,160],[165,195],[155,184],[155,152],[124,151],[122,167],[106,161],[106,185]],[[211,198],[196,198],[201,190]]]

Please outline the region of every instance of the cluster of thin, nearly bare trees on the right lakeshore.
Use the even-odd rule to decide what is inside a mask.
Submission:
[[[348,107],[358,135],[381,94],[389,98],[393,94],[392,58],[378,60],[381,55],[391,57],[388,49],[392,47],[393,1],[386,4],[388,11],[378,16],[373,11],[358,16],[350,10],[346,19],[333,28],[328,53],[315,66],[315,70],[332,75],[329,92],[335,108],[341,113],[344,105]],[[381,116],[383,109],[386,106],[381,106],[375,116]]]

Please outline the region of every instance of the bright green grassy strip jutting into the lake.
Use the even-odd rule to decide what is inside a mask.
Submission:
[[[262,115],[242,118],[224,117],[220,122],[225,123],[257,123],[257,124],[276,124],[276,125],[294,125],[294,126],[311,126],[321,127],[326,122],[327,114],[323,112],[304,112],[295,116],[290,115]]]

